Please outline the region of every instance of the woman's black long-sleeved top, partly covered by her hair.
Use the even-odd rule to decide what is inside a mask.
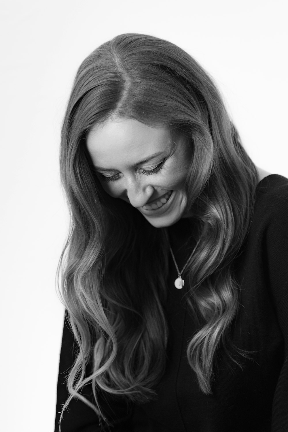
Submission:
[[[170,232],[185,238],[187,219]],[[178,244],[179,246],[179,244]],[[187,260],[172,245],[180,270]],[[288,179],[269,175],[257,186],[254,217],[247,241],[235,261],[241,305],[232,327],[236,346],[256,351],[241,358],[242,370],[225,354],[215,371],[212,394],[203,394],[188,365],[186,346],[196,330],[186,309],[183,289],[176,289],[175,265],[169,280],[169,350],[166,373],[155,387],[158,399],[128,409],[119,397],[105,410],[113,432],[280,432],[288,431]],[[170,277],[171,276],[171,277]],[[60,354],[55,432],[68,392],[65,375],[74,360],[74,337],[65,320]],[[91,394],[86,386],[82,394]],[[90,398],[93,402],[93,397]],[[62,432],[97,432],[94,411],[73,399],[64,412]]]

